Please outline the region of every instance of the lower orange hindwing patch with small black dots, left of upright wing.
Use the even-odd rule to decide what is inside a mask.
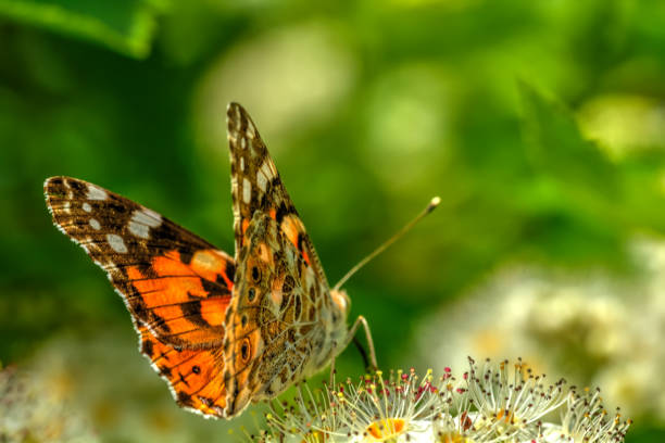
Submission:
[[[138,326],[138,332],[141,353],[168,382],[178,405],[205,416],[224,417],[226,389],[222,350],[178,350],[159,341],[143,325]]]

